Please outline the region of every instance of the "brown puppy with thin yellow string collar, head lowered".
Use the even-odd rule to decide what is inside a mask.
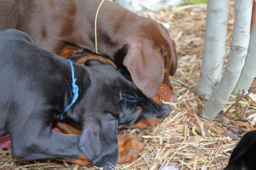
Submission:
[[[0,0],[0,29],[14,28],[28,33],[41,48],[65,54],[73,45],[71,58],[95,50],[95,15],[101,0]],[[120,68],[126,66],[137,87],[149,98],[156,95],[163,80],[171,89],[169,75],[177,68],[175,43],[167,29],[155,20],[105,1],[97,17],[99,54]],[[63,56],[63,55],[62,55]],[[165,78],[164,68],[166,68]],[[174,97],[173,97],[174,96]]]

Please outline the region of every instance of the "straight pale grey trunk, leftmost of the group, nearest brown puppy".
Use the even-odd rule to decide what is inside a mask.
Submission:
[[[228,0],[208,0],[202,67],[196,93],[211,95],[222,73],[227,35]]]

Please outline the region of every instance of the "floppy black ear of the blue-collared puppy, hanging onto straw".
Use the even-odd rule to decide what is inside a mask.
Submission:
[[[95,165],[110,169],[118,159],[117,125],[110,113],[86,117],[78,147]],[[110,163],[110,164],[109,164]]]

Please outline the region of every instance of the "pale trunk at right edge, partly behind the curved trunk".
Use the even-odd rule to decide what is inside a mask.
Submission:
[[[251,32],[248,52],[245,58],[245,64],[241,72],[240,78],[234,88],[232,94],[237,94],[239,89],[249,90],[256,75],[256,24],[254,24]]]

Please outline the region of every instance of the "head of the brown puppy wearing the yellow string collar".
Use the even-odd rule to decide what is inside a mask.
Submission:
[[[173,101],[175,95],[169,75],[174,75],[177,68],[175,42],[161,24],[149,18],[143,19],[145,21],[137,31],[140,34],[125,38],[116,55],[124,57],[123,65],[145,96],[153,98],[164,82],[171,89],[169,101]]]

